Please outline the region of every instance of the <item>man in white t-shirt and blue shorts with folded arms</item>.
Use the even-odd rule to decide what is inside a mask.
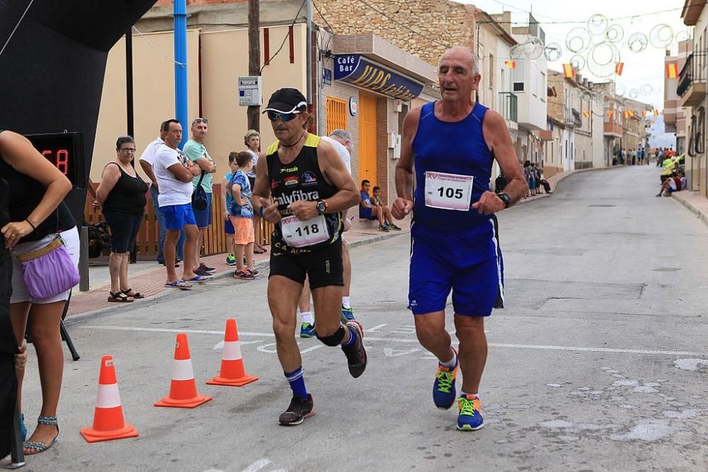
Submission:
[[[181,231],[185,232],[185,261],[193,260],[197,241],[197,222],[192,212],[192,179],[199,175],[198,165],[187,159],[177,149],[182,141],[182,125],[177,120],[167,120],[162,127],[165,132],[164,144],[161,144],[154,156],[153,170],[160,192],[158,202],[165,219],[164,258],[167,268],[165,287],[187,290],[192,288],[189,282],[204,282],[207,277],[196,275],[191,264],[183,267],[182,278],[175,270],[175,253]]]

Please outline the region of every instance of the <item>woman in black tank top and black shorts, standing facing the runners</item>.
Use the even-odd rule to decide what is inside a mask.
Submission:
[[[110,227],[110,292],[108,301],[130,302],[144,298],[128,283],[128,253],[135,245],[144,214],[147,184],[131,166],[135,158],[135,140],[121,136],[115,142],[115,159],[103,168],[96,200]]]

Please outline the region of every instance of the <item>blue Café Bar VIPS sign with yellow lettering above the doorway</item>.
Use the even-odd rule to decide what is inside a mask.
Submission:
[[[423,84],[370,62],[361,54],[337,54],[334,79],[399,100],[413,100],[423,93]]]

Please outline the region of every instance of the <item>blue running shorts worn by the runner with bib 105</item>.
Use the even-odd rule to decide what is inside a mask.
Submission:
[[[413,222],[409,305],[414,315],[452,308],[462,316],[489,316],[503,307],[504,274],[496,218],[474,229],[441,235]]]

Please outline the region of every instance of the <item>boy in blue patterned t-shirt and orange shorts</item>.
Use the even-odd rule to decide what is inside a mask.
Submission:
[[[246,151],[236,155],[236,172],[229,183],[232,195],[232,205],[229,219],[234,226],[234,253],[236,255],[236,272],[234,279],[253,280],[258,275],[253,266],[253,243],[256,234],[253,231],[253,205],[251,205],[251,183],[248,174],[253,167],[253,158]],[[244,255],[246,264],[244,265]]]

